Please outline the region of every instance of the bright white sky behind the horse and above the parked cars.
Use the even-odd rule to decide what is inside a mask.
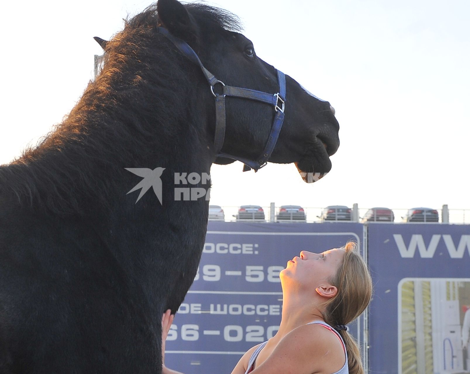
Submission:
[[[239,15],[259,57],[329,100],[333,168],[307,184],[291,165],[212,167],[211,204],[470,208],[470,1],[216,0]],[[93,77],[108,39],[147,1],[2,6],[0,164],[35,144]],[[230,126],[230,123],[227,124]],[[136,165],[155,168],[158,165]]]

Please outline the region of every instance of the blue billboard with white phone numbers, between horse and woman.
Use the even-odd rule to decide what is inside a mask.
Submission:
[[[355,241],[359,223],[209,222],[195,281],[173,321],[166,366],[183,373],[230,372],[243,353],[276,333],[282,314],[279,272],[300,251]],[[352,334],[363,340],[363,324]]]

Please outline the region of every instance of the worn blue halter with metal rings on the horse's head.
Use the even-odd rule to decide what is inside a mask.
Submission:
[[[181,53],[183,53],[190,61],[194,62],[201,68],[204,73],[204,76],[206,77],[207,81],[211,86],[211,92],[215,98],[216,125],[214,147],[217,157],[225,157],[243,162],[245,164],[243,166],[243,171],[254,169],[256,172],[258,171],[258,169],[265,167],[267,164],[267,160],[271,156],[271,153],[273,153],[274,146],[276,145],[279,133],[281,132],[282,122],[284,121],[284,106],[286,102],[286,77],[284,73],[276,69],[277,80],[279,83],[279,92],[275,93],[274,95],[272,93],[250,90],[248,88],[227,86],[223,82],[219,81],[213,74],[211,74],[209,70],[204,68],[204,65],[202,64],[201,60],[199,60],[199,57],[197,56],[196,52],[194,52],[194,50],[190,46],[188,46],[185,41],[173,36],[168,30],[163,27],[158,27],[158,32],[170,39],[172,43],[180,50]],[[216,84],[220,84],[222,86],[223,91],[221,94],[214,92],[214,87]],[[266,104],[270,104],[274,107],[274,111],[276,114],[274,117],[273,125],[271,127],[271,132],[269,134],[263,153],[261,153],[261,155],[258,157],[258,160],[248,160],[243,157],[232,156],[230,154],[221,152],[225,138],[226,96],[257,100]]]

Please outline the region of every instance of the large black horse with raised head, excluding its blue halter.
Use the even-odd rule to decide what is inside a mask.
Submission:
[[[204,244],[210,182],[197,176],[233,160],[217,157],[214,97],[200,67],[159,26],[225,84],[279,92],[275,69],[218,8],[159,0],[101,41],[102,73],[68,117],[0,168],[0,373],[161,371],[161,315],[178,309]],[[334,113],[289,76],[286,88],[269,161],[326,173],[339,145]],[[274,108],[226,105],[222,152],[256,159]],[[136,184],[160,196],[136,202],[126,194]]]

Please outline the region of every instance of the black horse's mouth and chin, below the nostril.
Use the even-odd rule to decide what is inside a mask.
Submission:
[[[317,142],[310,145],[301,160],[295,162],[297,170],[305,183],[314,183],[326,176],[331,170],[329,156],[337,147],[317,137]]]

